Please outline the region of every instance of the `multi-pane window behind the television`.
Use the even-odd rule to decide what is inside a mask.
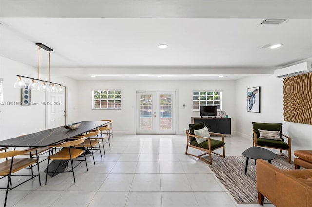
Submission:
[[[222,91],[193,91],[193,111],[199,111],[200,106],[222,109]]]

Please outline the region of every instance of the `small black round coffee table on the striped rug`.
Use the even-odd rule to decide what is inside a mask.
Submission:
[[[271,160],[277,157],[275,153],[261,147],[250,147],[245,150],[242,155],[246,157],[245,174],[247,173],[249,159],[254,159],[254,164],[256,164],[257,159],[268,160],[268,162],[271,164]]]

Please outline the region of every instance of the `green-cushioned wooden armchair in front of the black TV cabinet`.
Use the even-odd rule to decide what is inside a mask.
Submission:
[[[191,155],[191,156],[195,156],[198,159],[208,163],[208,164],[212,164],[211,161],[211,153],[214,153],[216,155],[219,155],[221,157],[225,157],[225,150],[224,150],[224,134],[220,134],[220,133],[215,133],[215,132],[208,132],[208,137],[203,137],[203,136],[198,136],[195,135],[195,131],[194,130],[200,130],[205,128],[205,123],[198,123],[198,124],[189,124],[190,129],[185,130],[186,131],[186,150],[185,150],[185,155]],[[222,141],[220,140],[216,140],[216,139],[212,139],[210,138],[210,135],[216,135],[216,136],[220,136],[222,138]],[[202,142],[198,143],[196,138],[201,138]],[[206,139],[206,140],[205,140]],[[201,151],[204,151],[205,153],[201,154],[201,155],[193,155],[188,153],[188,147],[192,147]],[[216,152],[213,152],[216,149],[219,148],[223,148],[223,155],[220,155]],[[207,155],[209,154],[209,161],[202,158],[203,155]]]

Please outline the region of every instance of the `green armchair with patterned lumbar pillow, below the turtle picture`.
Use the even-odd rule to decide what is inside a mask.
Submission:
[[[253,124],[253,146],[279,149],[280,154],[277,155],[285,156],[285,158],[288,159],[288,162],[292,163],[291,138],[282,133],[282,123],[252,122],[252,124]],[[275,136],[277,138],[274,138],[274,132],[277,133],[277,136]],[[287,138],[287,143],[284,141],[283,137]],[[278,138],[279,140],[277,140]],[[283,150],[288,151],[288,158],[287,155],[283,153]]]

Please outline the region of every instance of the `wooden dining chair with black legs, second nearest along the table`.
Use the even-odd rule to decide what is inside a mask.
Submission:
[[[85,137],[84,136],[80,136],[79,138],[74,138],[73,140],[70,140],[69,141],[65,141],[61,144],[55,144],[55,145],[51,145],[50,148],[49,148],[49,156],[48,156],[48,167],[46,169],[46,176],[45,176],[45,185],[47,184],[47,179],[48,179],[48,173],[53,173],[53,175],[55,173],[70,173],[72,172],[73,173],[73,178],[74,178],[74,183],[76,183],[75,181],[75,174],[74,174],[74,168],[77,167],[77,165],[74,167],[73,166],[73,161],[80,161],[83,162],[85,161],[86,162],[86,167],[87,167],[87,171],[88,171],[88,165],[87,165],[87,159],[86,159],[86,155],[85,155],[85,152],[84,152],[84,145],[83,145],[83,142],[85,141]],[[82,149],[78,149],[76,147],[80,146],[80,144],[82,144]],[[51,150],[55,147],[60,147],[61,150],[55,154],[51,154]],[[81,160],[81,159],[76,159],[77,157],[79,157],[80,155],[84,155],[84,160]],[[62,162],[59,162],[59,165],[53,169],[51,172],[49,172],[49,161],[50,160],[67,160],[66,162],[62,163]],[[58,168],[62,165],[67,165],[68,162],[71,163],[71,166],[72,166],[72,170],[71,171],[57,171]],[[52,175],[52,177],[53,177]]]

